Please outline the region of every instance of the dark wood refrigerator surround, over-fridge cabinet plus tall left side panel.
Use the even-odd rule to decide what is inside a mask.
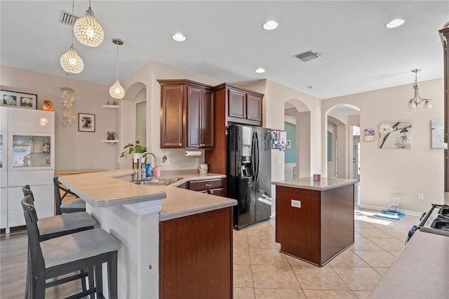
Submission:
[[[249,124],[262,126],[262,93],[249,91],[232,84],[221,84],[215,91],[215,146],[205,151],[205,161],[209,172],[227,174],[227,138],[228,124]]]

